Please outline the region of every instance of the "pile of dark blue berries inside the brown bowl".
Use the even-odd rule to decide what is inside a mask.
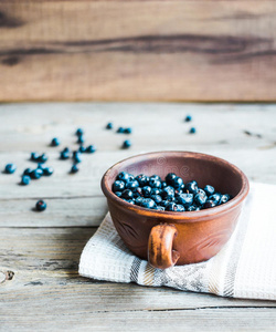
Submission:
[[[199,188],[195,180],[184,184],[174,173],[169,173],[164,180],[158,175],[134,176],[127,172],[117,175],[113,191],[121,199],[148,209],[159,211],[198,211],[229,201],[229,194],[215,191],[206,185]]]

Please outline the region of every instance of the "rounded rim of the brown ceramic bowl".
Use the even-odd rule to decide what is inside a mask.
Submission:
[[[242,179],[242,188],[238,191],[238,194],[233,197],[230,201],[220,205],[220,206],[215,206],[213,208],[209,208],[209,209],[203,209],[203,210],[199,210],[199,211],[182,211],[182,212],[174,212],[174,211],[159,211],[159,210],[153,210],[153,209],[148,209],[148,208],[144,208],[137,205],[132,205],[121,198],[119,198],[118,196],[116,196],[112,188],[108,187],[107,185],[107,176],[109,173],[114,172],[114,169],[119,168],[121,164],[126,163],[126,162],[130,162],[131,159],[135,159],[135,163],[140,162],[142,159],[145,159],[146,157],[150,158],[156,158],[156,157],[160,157],[160,155],[169,155],[169,156],[173,156],[173,155],[183,155],[185,154],[188,157],[195,157],[195,158],[205,158],[205,159],[215,159],[222,164],[224,164],[227,167],[231,167],[234,172],[236,172],[241,179]],[[149,159],[149,158],[147,158]],[[178,222],[189,222],[189,221],[203,221],[205,218],[209,219],[210,216],[215,216],[215,215],[222,215],[224,212],[227,212],[229,210],[232,210],[233,208],[235,208],[238,204],[241,204],[245,197],[247,196],[248,191],[250,191],[250,181],[246,177],[246,175],[235,165],[233,165],[232,163],[213,156],[213,155],[209,155],[209,154],[202,154],[202,153],[197,153],[197,152],[188,152],[188,151],[161,151],[161,152],[149,152],[149,153],[141,153],[141,154],[137,154],[130,157],[127,157],[125,159],[121,159],[119,162],[117,162],[116,164],[114,164],[113,166],[110,166],[105,174],[102,177],[102,181],[100,181],[100,186],[102,186],[102,190],[104,193],[104,195],[106,196],[107,199],[112,199],[113,201],[115,201],[116,204],[118,204],[119,206],[128,209],[128,210],[132,210],[138,215],[144,215],[147,217],[150,217],[150,215],[152,215],[152,217],[155,216],[155,218],[160,218],[160,219],[172,219],[172,220],[178,220]],[[197,219],[197,220],[194,220]],[[200,219],[200,220],[198,220]]]

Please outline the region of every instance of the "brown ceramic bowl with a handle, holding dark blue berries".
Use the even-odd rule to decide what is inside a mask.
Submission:
[[[200,211],[156,211],[131,205],[113,190],[118,173],[157,174],[163,179],[173,172],[184,183],[195,179],[202,188],[212,185],[233,198]],[[248,194],[246,176],[221,158],[191,152],[157,152],[137,155],[112,166],[103,176],[113,222],[126,246],[138,257],[160,269],[204,261],[217,253],[230,239]]]

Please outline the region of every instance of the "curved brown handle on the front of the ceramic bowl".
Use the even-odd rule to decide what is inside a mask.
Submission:
[[[177,228],[171,224],[160,224],[151,228],[148,241],[148,261],[157,269],[173,267],[180,253],[172,250]]]

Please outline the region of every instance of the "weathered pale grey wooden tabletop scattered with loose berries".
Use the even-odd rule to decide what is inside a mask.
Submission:
[[[276,105],[7,104],[0,105],[0,331],[275,331],[276,303],[93,281],[77,273],[79,255],[107,212],[99,180],[115,162],[149,151],[214,154],[251,180],[276,184]],[[184,123],[187,114],[193,116]],[[131,126],[129,136],[106,131]],[[59,160],[85,129],[94,155],[79,173]],[[197,134],[188,134],[191,126]],[[247,131],[250,133],[245,133]],[[52,137],[62,141],[50,147]],[[130,149],[120,149],[126,138]],[[19,186],[31,152],[46,152],[53,176]],[[36,199],[47,203],[33,211]]]

